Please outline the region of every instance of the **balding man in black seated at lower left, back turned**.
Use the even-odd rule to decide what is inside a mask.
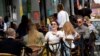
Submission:
[[[24,44],[15,40],[16,32],[12,28],[7,30],[7,38],[0,41],[0,53],[11,53],[16,56],[21,55],[22,47],[25,47]],[[29,49],[31,50],[31,49]]]

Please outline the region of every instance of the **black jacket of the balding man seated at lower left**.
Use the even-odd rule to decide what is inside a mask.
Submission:
[[[24,44],[12,38],[7,38],[0,41],[0,53],[11,53],[20,56]]]

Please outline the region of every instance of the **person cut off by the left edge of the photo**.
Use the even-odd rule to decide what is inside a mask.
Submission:
[[[3,17],[0,16],[0,36],[5,36],[5,31],[7,30],[7,24],[4,22]]]

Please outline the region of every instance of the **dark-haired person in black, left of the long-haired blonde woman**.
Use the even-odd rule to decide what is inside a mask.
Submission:
[[[23,36],[25,36],[28,33],[28,16],[23,15],[21,19],[21,23],[19,24],[16,32],[17,32],[17,39],[22,39]]]

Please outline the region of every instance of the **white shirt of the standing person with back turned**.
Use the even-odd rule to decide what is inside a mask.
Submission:
[[[59,28],[62,28],[66,21],[69,21],[69,15],[66,11],[62,10],[57,15],[57,22],[59,23]]]

